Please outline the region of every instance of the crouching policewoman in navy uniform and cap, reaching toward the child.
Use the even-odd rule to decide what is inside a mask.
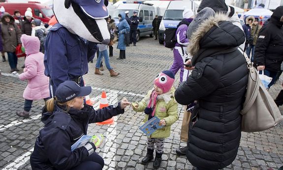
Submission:
[[[102,170],[103,159],[95,153],[96,142],[71,151],[71,145],[87,134],[89,123],[102,122],[124,113],[130,104],[121,102],[94,110],[84,104],[90,86],[80,87],[74,81],[65,81],[56,90],[55,97],[46,102],[41,121],[45,124],[36,138],[31,154],[32,170]]]

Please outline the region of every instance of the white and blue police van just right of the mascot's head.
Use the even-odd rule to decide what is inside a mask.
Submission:
[[[152,4],[147,4],[143,1],[123,1],[123,3],[117,6],[112,16],[112,19],[115,20],[116,26],[119,24],[118,15],[121,12],[126,11],[129,11],[129,18],[133,15],[133,11],[137,11],[137,16],[139,17],[139,25],[137,28],[137,41],[140,39],[141,36],[154,36],[152,22],[156,14],[155,7],[153,7]]]

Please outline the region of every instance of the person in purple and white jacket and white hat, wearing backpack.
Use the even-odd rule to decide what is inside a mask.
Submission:
[[[183,20],[177,26],[176,39],[177,43],[173,49],[174,62],[170,70],[176,75],[179,69],[180,82],[186,81],[189,75],[189,71],[184,69],[185,59],[187,57],[187,46],[189,45],[189,39],[187,38],[187,30],[190,22],[193,20],[193,12],[190,9],[185,9],[183,12]]]

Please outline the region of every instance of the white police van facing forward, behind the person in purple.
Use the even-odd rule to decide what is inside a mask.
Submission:
[[[178,24],[182,21],[184,8],[189,8],[193,10],[193,1],[192,0],[170,1],[159,25],[158,39],[160,44],[164,43],[165,30],[177,28]]]

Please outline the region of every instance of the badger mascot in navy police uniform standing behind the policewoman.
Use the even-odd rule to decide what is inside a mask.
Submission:
[[[108,44],[108,0],[53,0],[58,21],[45,41],[45,75],[50,77],[50,94],[59,84],[72,80],[84,86],[82,76],[94,58],[96,43]]]

